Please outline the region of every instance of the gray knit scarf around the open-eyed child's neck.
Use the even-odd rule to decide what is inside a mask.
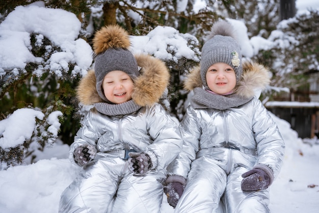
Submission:
[[[203,88],[194,88],[194,96],[191,105],[194,109],[212,108],[217,110],[226,110],[238,107],[250,101],[253,97],[245,98],[236,93],[230,95],[218,95],[205,91]]]

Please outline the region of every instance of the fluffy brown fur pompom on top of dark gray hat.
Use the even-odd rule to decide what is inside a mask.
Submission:
[[[96,55],[108,48],[126,48],[130,46],[128,33],[118,25],[103,26],[95,33],[93,49]]]

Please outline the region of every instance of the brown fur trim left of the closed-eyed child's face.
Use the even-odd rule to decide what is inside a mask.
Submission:
[[[103,101],[96,91],[96,78],[93,70],[90,70],[79,82],[76,88],[76,97],[84,105]]]

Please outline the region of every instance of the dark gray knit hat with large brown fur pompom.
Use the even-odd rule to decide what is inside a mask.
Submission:
[[[96,90],[99,96],[110,102],[102,91],[104,76],[111,71],[120,70],[133,80],[139,76],[139,68],[130,46],[127,32],[118,25],[104,26],[96,32],[93,39],[95,57]]]

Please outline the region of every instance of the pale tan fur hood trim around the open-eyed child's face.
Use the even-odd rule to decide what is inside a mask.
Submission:
[[[236,84],[236,93],[245,98],[254,96],[254,90],[265,89],[270,84],[270,71],[268,68],[256,62],[243,62],[243,74]],[[193,68],[184,81],[184,89],[192,91],[196,87],[202,87],[200,66]]]

